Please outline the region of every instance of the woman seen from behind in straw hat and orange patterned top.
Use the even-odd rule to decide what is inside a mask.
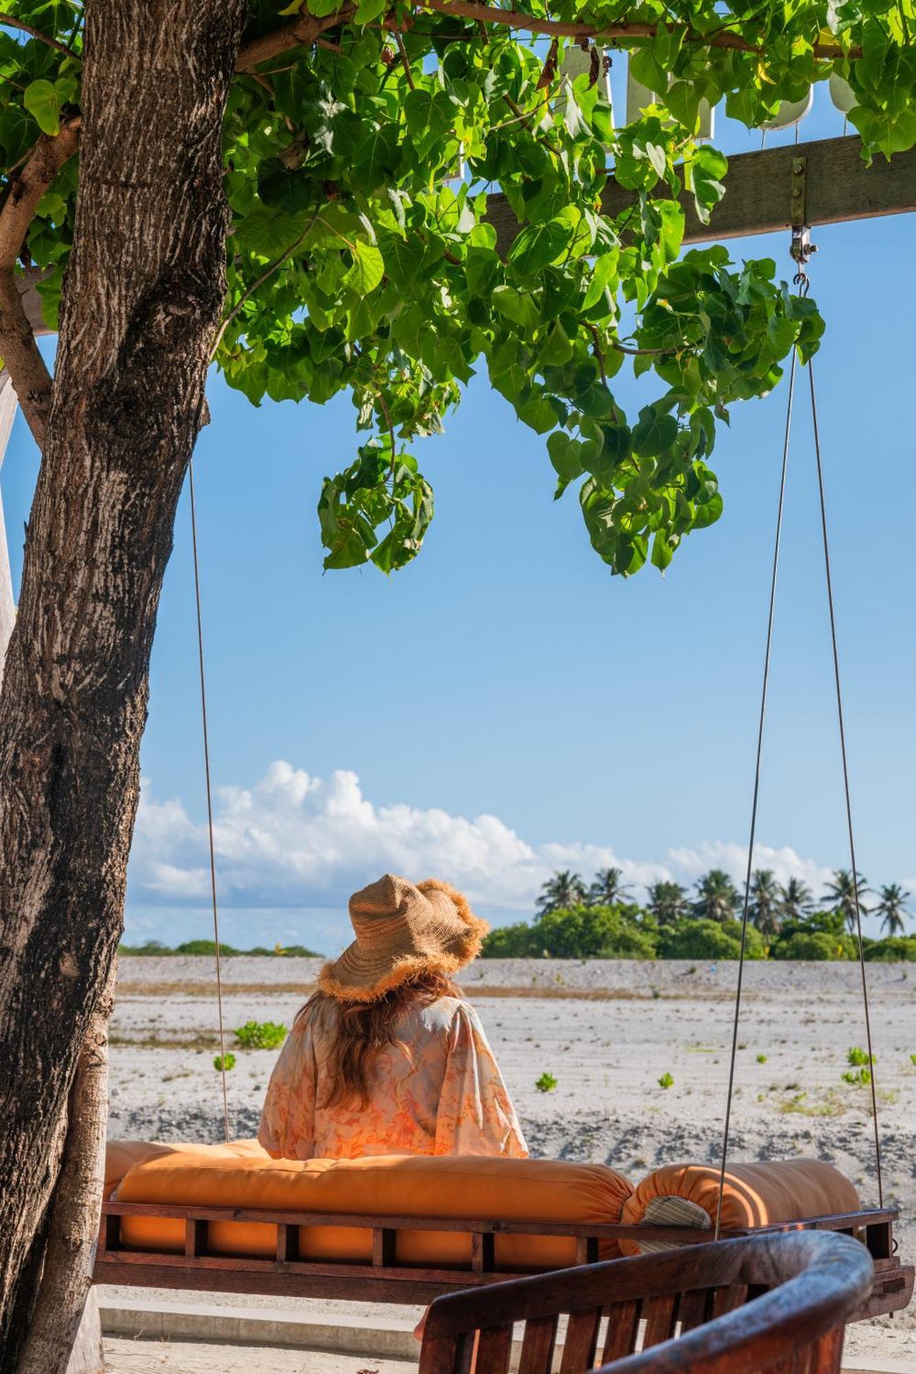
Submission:
[[[444,882],[385,874],[349,899],[356,938],[326,963],[271,1076],[259,1140],[275,1160],[525,1157],[473,1007],[451,982],[486,922]]]

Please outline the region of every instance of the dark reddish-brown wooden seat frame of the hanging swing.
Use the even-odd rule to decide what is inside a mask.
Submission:
[[[184,1253],[127,1249],[121,1245],[121,1217],[144,1216],[184,1221]],[[839,1231],[858,1235],[875,1263],[875,1285],[853,1320],[861,1322],[905,1308],[913,1294],[913,1265],[895,1256],[890,1208],[866,1208],[744,1230],[722,1230],[728,1239],[785,1231]],[[260,1221],[276,1227],[272,1259],[224,1254],[209,1246],[212,1221]],[[300,1259],[300,1228],[358,1227],[371,1232],[371,1264]],[[459,1231],[470,1235],[469,1268],[417,1267],[397,1261],[399,1231]],[[257,1208],[216,1208],[179,1204],[106,1201],[102,1206],[94,1283],[131,1287],[168,1287],[197,1292],[252,1293],[272,1297],[349,1298],[369,1303],[426,1304],[446,1293],[498,1283],[524,1275],[497,1270],[497,1235],[553,1235],[575,1241],[575,1264],[598,1260],[601,1241],[667,1241],[708,1245],[710,1231],[681,1226],[620,1226],[557,1221],[498,1221],[465,1217],[367,1216],[363,1213],[283,1212]],[[572,1265],[571,1265],[572,1267]]]

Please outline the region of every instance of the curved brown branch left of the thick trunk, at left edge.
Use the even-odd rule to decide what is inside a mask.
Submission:
[[[78,146],[80,117],[56,137],[43,133],[22,172],[11,177],[0,210],[0,357],[12,379],[22,414],[39,448],[51,409],[51,375],[32,333],[15,268],[39,201]]]

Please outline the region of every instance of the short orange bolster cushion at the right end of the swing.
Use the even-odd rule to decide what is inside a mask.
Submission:
[[[623,1204],[624,1226],[640,1226],[655,1198],[695,1202],[715,1224],[719,1171],[711,1164],[666,1164],[649,1173]],[[820,1160],[773,1160],[732,1164],[725,1173],[722,1227],[744,1230],[773,1221],[800,1221],[832,1212],[857,1212],[858,1193],[839,1169]],[[622,1241],[624,1254],[638,1254],[637,1241]]]

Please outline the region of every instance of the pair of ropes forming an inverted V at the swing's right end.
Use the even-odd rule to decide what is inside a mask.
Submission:
[[[795,276],[795,284],[799,289],[799,295],[806,297],[809,290],[809,279],[805,272],[805,258],[799,261],[799,269]],[[858,868],[855,867],[855,834],[853,827],[853,804],[849,785],[849,764],[846,756],[846,725],[843,717],[843,691],[840,686],[840,666],[839,666],[839,649],[836,644],[836,616],[833,609],[833,580],[831,576],[831,550],[829,537],[827,529],[827,500],[824,496],[824,467],[821,460],[821,436],[817,420],[817,394],[814,389],[814,368],[811,360],[805,364],[807,367],[809,389],[811,400],[811,426],[814,431],[814,458],[817,464],[817,489],[818,502],[821,513],[821,534],[824,545],[824,573],[827,580],[827,606],[829,613],[829,627],[831,627],[831,647],[833,657],[833,683],[836,687],[836,716],[839,723],[839,739],[840,739],[840,760],[843,765],[843,796],[846,802],[846,829],[849,834],[849,852],[851,863],[851,882],[853,882],[853,903],[855,908],[855,932],[858,943],[858,966],[862,980],[862,1007],[865,1013],[865,1036],[868,1044],[868,1066],[869,1066],[869,1084],[871,1084],[871,1099],[872,1099],[872,1123],[875,1131],[875,1172],[877,1178],[877,1205],[884,1206],[884,1187],[882,1180],[882,1143],[880,1131],[877,1127],[877,1090],[875,1084],[875,1055],[872,1054],[872,1022],[868,1004],[868,978],[865,976],[865,948],[862,944],[862,911],[858,896]],[[744,985],[744,959],[747,952],[747,932],[748,932],[748,918],[751,905],[751,874],[754,866],[754,842],[756,837],[756,815],[758,815],[758,801],[761,790],[761,761],[763,753],[763,724],[766,719],[766,698],[769,688],[770,676],[770,650],[773,644],[773,611],[776,605],[776,584],[777,572],[780,561],[780,544],[783,536],[783,513],[785,504],[785,475],[788,469],[788,451],[789,451],[789,431],[792,423],[792,401],[795,397],[795,375],[796,375],[796,353],[792,350],[792,365],[789,371],[789,389],[788,389],[788,403],[785,408],[785,437],[783,442],[783,469],[780,475],[780,497],[778,510],[776,519],[776,539],[773,547],[773,572],[770,577],[770,603],[766,621],[766,649],[763,654],[763,686],[761,692],[761,714],[758,723],[756,735],[756,763],[754,769],[754,794],[751,801],[751,833],[748,840],[747,851],[747,870],[744,875],[744,904],[741,914],[741,947],[739,954],[739,974],[737,974],[737,988],[734,995],[734,1021],[732,1025],[732,1055],[729,1059],[729,1085],[725,1103],[725,1125],[722,1131],[722,1160],[719,1165],[719,1187],[718,1187],[718,1201],[715,1209],[715,1232],[714,1237],[718,1241],[721,1226],[722,1226],[722,1200],[725,1194],[725,1175],[728,1168],[728,1154],[729,1154],[729,1136],[732,1125],[732,1102],[734,1096],[734,1063],[737,1058],[737,1037],[739,1037],[739,1022],[741,1017],[741,991]]]

